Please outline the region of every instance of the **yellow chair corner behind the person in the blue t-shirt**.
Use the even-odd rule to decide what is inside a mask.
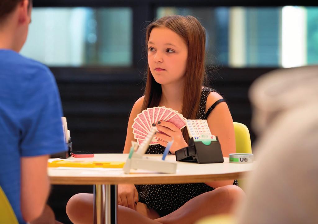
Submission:
[[[0,186],[0,223],[19,224],[7,196]]]

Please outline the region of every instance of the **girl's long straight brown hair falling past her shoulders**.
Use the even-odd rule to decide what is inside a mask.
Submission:
[[[204,69],[205,58],[205,30],[200,22],[192,16],[171,15],[165,16],[147,26],[146,30],[146,50],[148,52],[148,41],[150,32],[155,27],[166,27],[176,32],[183,38],[188,46],[188,58],[186,71],[184,74],[185,84],[183,89],[182,113],[186,119],[196,119],[199,108],[202,85],[206,83],[206,73]],[[146,88],[142,110],[149,107],[158,106],[162,89],[161,84],[153,78],[149,65],[147,71]],[[183,137],[188,142],[189,134],[183,129]]]

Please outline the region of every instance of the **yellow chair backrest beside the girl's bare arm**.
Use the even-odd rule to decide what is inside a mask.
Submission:
[[[236,153],[252,153],[250,132],[246,125],[233,122]]]

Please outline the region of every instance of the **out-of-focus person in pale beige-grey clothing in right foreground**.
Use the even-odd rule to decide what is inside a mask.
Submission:
[[[239,224],[318,222],[318,66],[280,69],[250,89],[256,163]]]

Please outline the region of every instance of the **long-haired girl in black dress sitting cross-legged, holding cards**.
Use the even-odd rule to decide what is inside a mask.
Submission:
[[[217,92],[204,87],[205,38],[204,28],[191,16],[166,16],[148,25],[146,89],[130,113],[123,153],[129,153],[131,141],[136,140],[132,128],[134,119],[143,110],[157,106],[178,111],[187,119],[207,119],[211,133],[218,136],[223,155],[235,153],[235,134],[229,108]],[[151,125],[156,125],[160,131],[156,133],[158,144],[150,145],[146,153],[162,154],[172,138],[174,142],[169,153],[174,154],[188,146],[186,128],[180,130],[164,120],[157,120]],[[229,213],[234,202],[243,194],[235,185],[236,180],[137,186],[121,184],[118,185],[118,220],[119,223],[134,220],[135,223],[186,224],[206,215]],[[66,207],[74,223],[92,223],[92,211],[92,194],[74,195]]]

